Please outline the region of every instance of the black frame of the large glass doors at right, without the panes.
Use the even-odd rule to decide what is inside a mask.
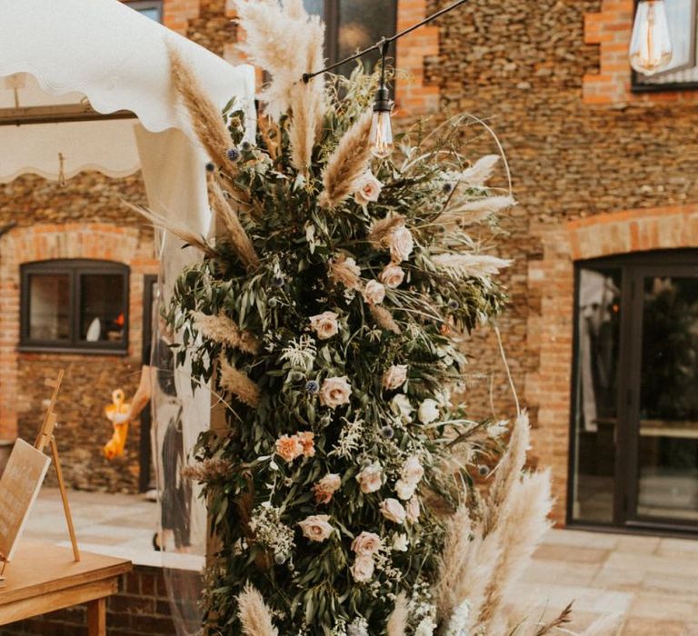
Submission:
[[[642,339],[642,331],[636,330],[637,320],[633,312],[638,311],[637,289],[638,274],[648,271],[662,271],[665,274],[693,273],[698,260],[698,249],[693,247],[670,250],[650,250],[647,252],[615,254],[574,262],[574,305],[573,305],[573,352],[570,386],[570,420],[568,422],[569,443],[567,455],[567,489],[565,502],[565,526],[572,529],[600,532],[629,532],[664,536],[685,536],[695,539],[698,524],[695,522],[675,521],[673,519],[653,518],[652,521],[638,520],[633,517],[632,508],[637,500],[636,484],[632,483],[632,472],[637,463],[636,440],[633,439],[632,420],[636,417],[633,396],[639,391],[639,364],[637,348]],[[576,423],[575,404],[577,403],[578,370],[576,361],[579,356],[579,283],[580,273],[584,268],[617,268],[621,270],[621,325],[619,377],[617,387],[618,423],[615,431],[615,466],[613,474],[613,519],[611,522],[594,522],[574,518],[574,486],[576,480]],[[634,454],[634,456],[633,456]]]

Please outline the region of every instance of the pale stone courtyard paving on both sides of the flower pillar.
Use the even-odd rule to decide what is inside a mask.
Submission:
[[[155,503],[95,492],[71,492],[70,502],[83,550],[160,564]],[[57,491],[41,492],[26,532],[69,545]],[[698,636],[698,541],[552,530],[512,598],[536,619],[574,601],[570,631],[617,613],[623,636]]]

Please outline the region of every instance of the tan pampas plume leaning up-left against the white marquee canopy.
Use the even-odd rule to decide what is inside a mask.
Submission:
[[[170,73],[177,93],[182,96],[194,132],[211,160],[230,174],[236,174],[235,164],[228,158],[231,139],[218,108],[206,96],[192,67],[184,62],[174,45],[167,44]]]

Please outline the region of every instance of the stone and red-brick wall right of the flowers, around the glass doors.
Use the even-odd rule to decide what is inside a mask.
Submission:
[[[430,0],[427,11],[446,4]],[[500,328],[532,413],[533,454],[553,467],[557,522],[566,500],[573,262],[694,240],[697,93],[629,93],[631,5],[471,0],[444,16],[440,55],[426,59],[425,82],[438,86],[441,100],[429,125],[463,111],[487,117],[511,162],[520,204],[499,239],[500,253],[514,259]],[[590,78],[611,71],[621,86],[613,99],[589,100]],[[466,152],[494,152],[474,137],[464,131]],[[494,376],[495,411],[511,413],[494,338],[475,335],[469,350],[474,373]],[[488,384],[476,382],[464,396],[475,414],[490,411]]]

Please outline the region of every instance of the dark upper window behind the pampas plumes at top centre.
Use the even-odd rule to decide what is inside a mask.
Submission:
[[[304,0],[310,14],[322,16],[327,27],[325,55],[330,64],[353,55],[358,49],[374,45],[382,37],[395,35],[397,26],[396,0]],[[394,56],[394,51],[390,52]],[[366,69],[371,71],[380,58],[376,51],[364,57]],[[355,62],[334,71],[348,75]]]

